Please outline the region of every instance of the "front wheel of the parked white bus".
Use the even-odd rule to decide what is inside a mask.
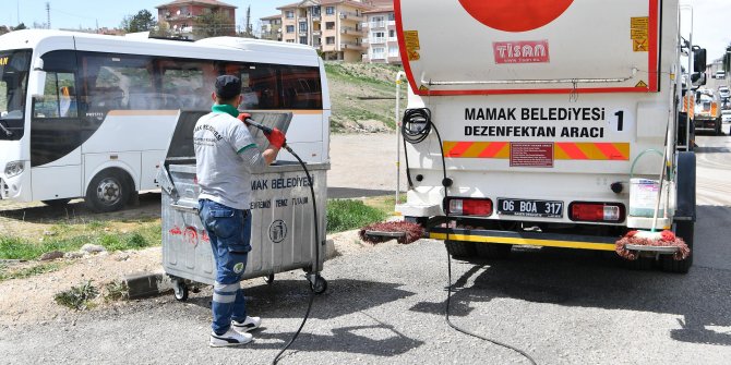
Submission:
[[[131,187],[124,172],[104,170],[99,172],[86,190],[86,205],[96,212],[121,209],[130,197]]]

